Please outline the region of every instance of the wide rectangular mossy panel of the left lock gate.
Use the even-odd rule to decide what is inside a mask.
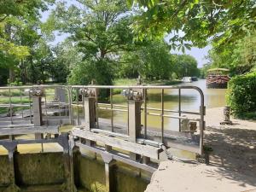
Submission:
[[[62,153],[17,154],[16,182],[19,185],[59,184],[65,181]]]

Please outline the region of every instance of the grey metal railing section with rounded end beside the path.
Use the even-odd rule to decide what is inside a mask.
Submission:
[[[199,122],[199,134],[200,134],[200,150],[202,154],[202,148],[203,148],[203,131],[205,128],[205,123],[204,123],[204,115],[205,115],[205,106],[204,106],[204,94],[202,90],[196,86],[143,86],[143,85],[138,85],[138,86],[108,86],[108,85],[86,85],[86,86],[80,86],[80,85],[73,85],[71,86],[72,90],[77,90],[79,92],[79,89],[96,89],[97,91],[100,90],[109,90],[109,102],[99,102],[98,95],[96,95],[96,128],[99,129],[100,122],[99,122],[99,113],[98,110],[108,110],[111,112],[111,131],[113,131],[113,112],[117,111],[120,113],[129,113],[129,108],[128,108],[128,102],[127,105],[119,105],[119,104],[114,104],[113,103],[113,90],[114,89],[119,89],[119,90],[139,90],[142,92],[142,102],[143,105],[141,109],[143,110],[144,114],[142,118],[144,119],[144,124],[143,124],[143,137],[144,139],[147,139],[148,136],[148,123],[147,119],[148,116],[159,116],[160,117],[160,136],[161,136],[161,142],[164,143],[164,137],[165,137],[165,118],[168,119],[178,119],[178,131],[181,131],[181,121],[183,119],[185,120],[191,120],[195,122]],[[148,90],[161,90],[160,91],[160,108],[148,108]],[[164,95],[165,95],[165,90],[178,90],[178,109],[177,110],[171,110],[171,109],[166,109],[165,108],[165,100],[164,100]],[[199,111],[194,112],[194,111],[185,111],[182,110],[182,100],[181,100],[181,90],[196,90],[199,95],[200,95],[200,106],[199,106]],[[128,101],[129,99],[127,99]],[[79,106],[79,103],[77,104]],[[81,106],[81,104],[80,104]],[[84,107],[84,106],[83,106]],[[152,112],[154,111],[154,113]],[[158,113],[157,113],[158,112]],[[177,113],[177,115],[170,115],[166,113]],[[189,117],[183,117],[182,114],[192,114],[198,116],[198,118],[189,118]],[[127,115],[127,122],[128,122],[128,130],[129,130],[129,115]],[[129,131],[127,133],[129,135]]]

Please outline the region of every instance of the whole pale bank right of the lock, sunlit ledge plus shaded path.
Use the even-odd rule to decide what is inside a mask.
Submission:
[[[223,108],[207,109],[209,166],[161,162],[146,192],[256,191],[256,121],[231,118],[234,125],[219,125],[222,114]]]

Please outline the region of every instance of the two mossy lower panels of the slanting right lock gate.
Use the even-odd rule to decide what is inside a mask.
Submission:
[[[76,154],[74,156],[74,175],[76,185],[91,191],[105,191],[104,163],[101,160],[88,159]],[[111,192],[143,192],[149,183],[148,180],[139,176],[139,170],[117,164],[112,168],[113,189]]]

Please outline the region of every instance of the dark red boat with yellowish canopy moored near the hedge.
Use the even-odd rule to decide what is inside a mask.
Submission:
[[[207,70],[207,88],[226,89],[230,80],[227,74],[229,71],[226,68],[211,68]]]

